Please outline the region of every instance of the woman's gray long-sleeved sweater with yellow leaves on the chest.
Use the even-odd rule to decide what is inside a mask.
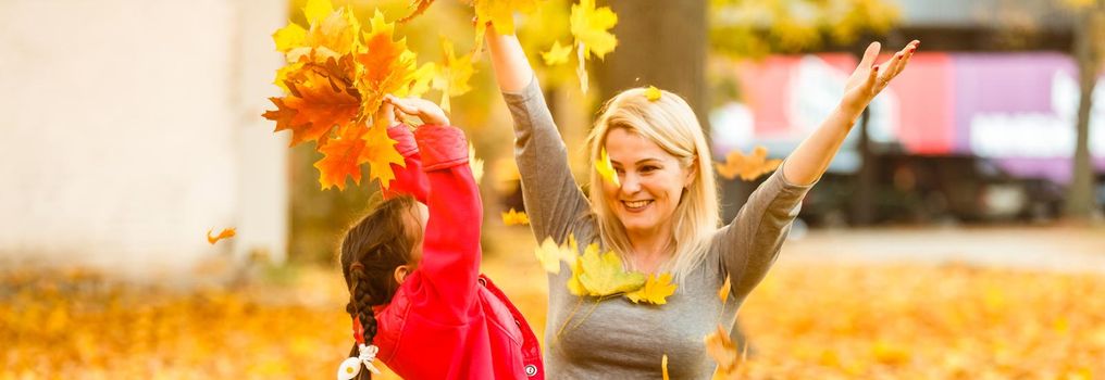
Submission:
[[[537,80],[503,97],[514,118],[514,155],[534,236],[564,244],[573,233],[580,247],[599,242],[594,213],[571,175]],[[788,183],[781,169],[771,175],[736,219],[717,230],[705,262],[678,284],[666,305],[577,297],[566,285],[571,271],[561,263],[560,274],[548,277],[548,378],[659,379],[663,355],[673,379],[709,378],[715,363],[703,338],[718,324],[732,327],[738,306],[775,262],[809,188]],[[733,294],[723,305],[717,292],[726,275],[732,275]]]

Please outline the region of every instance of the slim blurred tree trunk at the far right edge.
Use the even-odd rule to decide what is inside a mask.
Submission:
[[[1102,64],[1101,35],[1103,6],[1084,11],[1077,21],[1074,41],[1074,59],[1078,65],[1078,118],[1075,124],[1077,140],[1074,146],[1074,166],[1071,188],[1066,197],[1066,218],[1088,221],[1095,214],[1094,168],[1090,162],[1090,110],[1093,107],[1094,85]]]

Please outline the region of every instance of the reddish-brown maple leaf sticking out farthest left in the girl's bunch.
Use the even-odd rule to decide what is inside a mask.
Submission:
[[[288,84],[288,96],[270,98],[276,110],[262,116],[276,122],[275,131],[292,130],[292,146],[303,141],[325,142],[332,128],[357,117],[360,101],[315,70],[301,71]]]

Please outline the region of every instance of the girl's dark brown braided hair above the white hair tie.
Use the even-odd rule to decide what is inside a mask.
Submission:
[[[339,261],[349,287],[346,313],[360,323],[365,345],[372,345],[377,332],[372,307],[391,302],[399,289],[393,275],[396,267],[410,264],[411,252],[419,241],[421,228],[410,222],[412,217],[415,221],[418,218],[414,204],[410,197],[380,201],[341,241]],[[349,356],[357,355],[354,342]],[[358,379],[371,379],[371,373],[362,370]]]

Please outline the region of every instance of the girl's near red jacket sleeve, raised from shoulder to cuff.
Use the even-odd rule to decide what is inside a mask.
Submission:
[[[423,300],[435,319],[463,320],[475,304],[483,203],[469,166],[469,145],[455,127],[427,125],[414,131],[430,184],[430,218],[422,241]]]

